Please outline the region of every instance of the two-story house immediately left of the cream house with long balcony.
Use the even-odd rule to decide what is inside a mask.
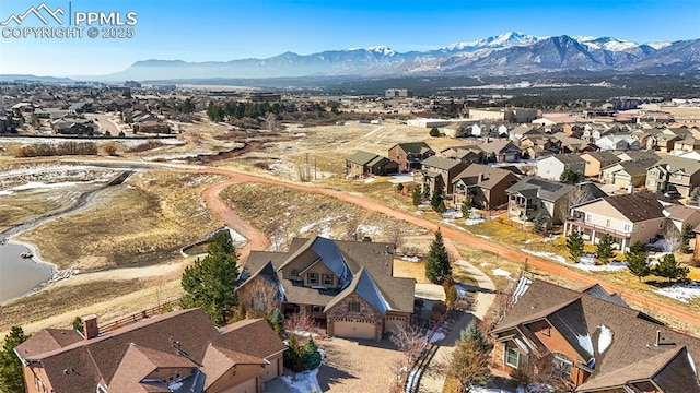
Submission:
[[[542,215],[548,225],[561,224],[571,205],[606,195],[592,182],[572,186],[535,177],[522,178],[505,192],[509,195],[509,217],[532,221]]]

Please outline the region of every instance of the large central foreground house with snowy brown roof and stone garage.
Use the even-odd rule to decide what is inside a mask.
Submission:
[[[329,335],[380,341],[413,312],[416,279],[395,277],[393,266],[390,243],[298,238],[287,252],[253,251],[236,290],[255,299],[256,283],[264,283],[283,313],[304,311]]]

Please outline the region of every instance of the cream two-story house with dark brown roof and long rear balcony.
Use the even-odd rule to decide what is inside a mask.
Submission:
[[[638,192],[604,196],[571,207],[564,236],[579,230],[584,240],[597,245],[600,236],[612,237],[614,247],[626,251],[635,241],[653,242],[668,224],[665,206],[677,203],[662,194]]]

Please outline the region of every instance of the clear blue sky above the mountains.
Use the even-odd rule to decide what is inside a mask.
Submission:
[[[45,2],[68,10],[68,0]],[[39,3],[0,0],[0,21]],[[700,38],[700,0],[72,0],[71,9],[137,12],[135,37],[0,37],[0,73],[108,74],[147,59],[225,61],[376,45],[427,50],[509,31],[638,43]],[[30,17],[25,24],[42,25]]]

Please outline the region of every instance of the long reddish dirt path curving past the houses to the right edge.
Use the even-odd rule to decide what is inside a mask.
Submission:
[[[257,177],[257,176],[253,176],[253,175],[246,175],[246,174],[241,174],[241,172],[234,172],[231,170],[226,170],[226,169],[221,169],[221,168],[207,168],[203,169],[201,171],[205,172],[211,172],[211,174],[218,174],[218,175],[223,175],[223,176],[228,176],[230,178],[230,181],[223,182],[223,183],[218,183],[215,184],[212,189],[218,189],[219,191],[217,191],[215,193],[218,194],[218,192],[220,192],[221,190],[223,190],[224,188],[233,184],[233,183],[242,183],[242,182],[255,182],[255,183],[262,183],[262,184],[272,184],[272,186],[281,186],[281,187],[287,187],[287,188],[291,188],[294,190],[299,190],[299,191],[304,191],[304,192],[312,192],[312,193],[317,193],[317,194],[322,194],[322,195],[327,195],[327,196],[331,196],[335,199],[338,199],[340,201],[343,202],[348,202],[348,203],[352,203],[355,204],[358,206],[361,206],[362,209],[365,209],[366,211],[370,212],[376,212],[376,213],[383,213],[386,214],[387,216],[397,218],[397,219],[401,219],[405,221],[407,223],[420,226],[422,228],[425,228],[428,230],[432,230],[435,231],[440,228],[440,230],[442,231],[443,236],[447,239],[454,240],[454,241],[459,241],[463,242],[465,245],[468,245],[469,247],[474,247],[477,249],[480,249],[482,251],[487,251],[487,252],[491,252],[494,253],[499,257],[503,257],[513,261],[520,261],[520,262],[525,262],[525,260],[527,260],[528,264],[533,267],[536,267],[538,270],[542,270],[547,273],[550,273],[552,275],[562,277],[564,279],[574,282],[574,283],[579,283],[582,286],[588,286],[588,285],[593,285],[593,284],[600,284],[606,290],[610,291],[610,293],[617,293],[617,294],[623,294],[622,297],[630,302],[635,302],[638,305],[643,305],[644,307],[651,309],[651,310],[655,310],[660,313],[666,314],[673,319],[676,319],[678,321],[682,321],[686,322],[688,324],[692,324],[696,326],[700,326],[700,315],[692,313],[690,311],[685,311],[685,310],[680,310],[680,309],[675,309],[675,308],[669,308],[667,303],[649,298],[644,295],[638,294],[638,293],[631,293],[626,290],[626,288],[616,286],[616,285],[611,285],[609,283],[606,283],[605,281],[599,279],[598,277],[592,276],[592,275],[587,275],[584,273],[580,273],[576,271],[573,271],[571,269],[568,269],[565,265],[562,265],[560,263],[553,262],[553,261],[547,261],[547,260],[542,260],[539,258],[536,258],[534,255],[517,251],[517,250],[513,250],[510,249],[505,246],[502,246],[498,242],[494,242],[492,240],[487,240],[477,236],[472,236],[469,235],[467,233],[464,233],[459,229],[455,229],[452,227],[447,227],[447,226],[439,226],[435,223],[432,223],[425,218],[419,217],[419,216],[415,216],[412,214],[408,214],[401,211],[396,211],[392,207],[388,207],[386,205],[383,205],[376,201],[370,200],[364,198],[361,193],[351,193],[351,192],[345,192],[345,191],[337,191],[337,190],[328,190],[328,189],[323,189],[323,188],[317,188],[317,187],[311,187],[311,186],[304,186],[304,184],[298,184],[298,183],[290,183],[290,182],[285,182],[285,181],[281,181],[281,180],[273,180],[273,179],[268,179],[268,178],[261,178],[261,177]],[[218,199],[217,199],[218,200]],[[207,202],[209,203],[209,201]],[[259,245],[265,245],[261,248],[257,248],[259,249],[266,249],[269,246],[269,241],[267,241],[267,239],[265,238],[265,235],[262,235],[261,233],[257,231],[256,229],[252,228],[247,223],[243,222],[237,215],[235,215],[235,213],[233,213],[233,211],[231,211],[231,209],[229,206],[225,205],[225,203],[223,203],[221,200],[218,200],[218,203],[223,204],[223,211],[225,212],[225,217],[228,217],[229,219],[231,219],[231,223],[226,223],[229,225],[231,225],[232,228],[235,228],[236,226],[241,227],[241,234],[244,235],[246,238],[248,237],[246,234],[249,233],[252,234],[252,241],[249,242],[249,245],[253,243],[259,243]],[[218,213],[219,214],[219,213]],[[220,215],[221,216],[221,215]],[[236,229],[237,230],[237,229]],[[246,234],[244,234],[244,231],[246,231]],[[261,242],[261,240],[259,239],[259,237],[265,238],[265,242]],[[247,245],[246,245],[247,246]],[[248,251],[249,253],[249,251]],[[247,254],[246,254],[247,255]]]

